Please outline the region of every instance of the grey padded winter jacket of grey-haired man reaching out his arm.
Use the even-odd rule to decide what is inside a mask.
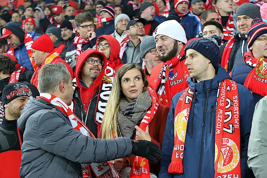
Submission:
[[[21,178],[80,178],[80,163],[129,157],[132,152],[128,138],[94,140],[81,134],[57,107],[43,99],[30,97],[18,128],[24,131]]]

